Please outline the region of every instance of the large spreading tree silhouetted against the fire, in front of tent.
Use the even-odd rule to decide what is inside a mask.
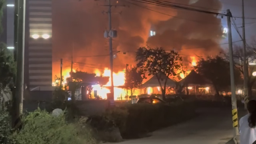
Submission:
[[[142,47],[136,52],[137,66],[143,74],[155,75],[158,79],[162,98],[165,99],[166,82],[168,77],[178,75],[182,66],[182,58],[177,52],[166,52],[163,48]],[[160,80],[165,79],[164,84]]]

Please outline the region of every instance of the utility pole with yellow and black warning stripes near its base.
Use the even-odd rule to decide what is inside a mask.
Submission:
[[[233,45],[232,45],[232,33],[231,33],[231,20],[232,14],[230,10],[227,10],[227,21],[228,21],[228,44],[229,44],[229,63],[230,63],[230,86],[232,93],[232,120],[234,128],[234,137],[238,135],[238,114],[236,106],[236,87],[234,80],[234,61],[233,61]]]

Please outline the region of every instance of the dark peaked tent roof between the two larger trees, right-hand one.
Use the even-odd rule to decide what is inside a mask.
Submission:
[[[182,84],[207,85],[212,84],[210,80],[192,70],[186,78],[180,80]]]

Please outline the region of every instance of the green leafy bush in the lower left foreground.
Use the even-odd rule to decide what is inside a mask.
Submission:
[[[65,115],[52,116],[36,110],[22,118],[22,129],[10,136],[15,144],[94,144],[90,130],[80,123],[68,124]]]

